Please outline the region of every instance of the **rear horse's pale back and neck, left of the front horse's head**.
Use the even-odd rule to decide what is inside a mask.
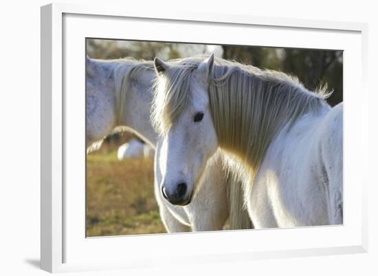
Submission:
[[[157,138],[150,123],[155,77],[151,67],[152,63],[126,59],[87,59],[87,147],[125,127],[155,147]]]

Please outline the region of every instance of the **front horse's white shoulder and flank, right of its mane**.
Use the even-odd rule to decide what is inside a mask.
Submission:
[[[333,119],[342,122],[342,106],[299,119],[271,142],[247,195],[256,227],[342,223],[342,124]]]

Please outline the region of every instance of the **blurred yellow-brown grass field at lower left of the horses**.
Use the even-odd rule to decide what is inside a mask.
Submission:
[[[147,233],[166,233],[153,191],[153,158],[118,161],[115,145],[89,153],[87,236]]]

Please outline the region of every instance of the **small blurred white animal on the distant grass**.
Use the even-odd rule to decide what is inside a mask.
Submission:
[[[124,143],[118,147],[117,158],[118,160],[124,160],[129,158],[148,158],[153,157],[154,149],[135,138],[131,138],[129,142]]]

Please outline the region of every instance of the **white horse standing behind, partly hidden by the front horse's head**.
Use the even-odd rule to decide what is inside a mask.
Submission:
[[[101,61],[87,58],[87,145],[100,145],[113,129],[133,131],[155,148],[157,134],[150,123],[153,81],[152,62],[133,60]],[[159,156],[159,147],[156,149]],[[192,202],[175,206],[162,198],[161,175],[155,162],[155,197],[168,232],[221,230],[229,217],[227,182],[221,160],[205,169],[203,185]],[[174,167],[173,167],[174,168]],[[187,202],[188,203],[188,202]],[[233,211],[232,229],[251,228],[247,212]],[[240,218],[239,218],[240,217]],[[243,219],[244,218],[244,219]]]

